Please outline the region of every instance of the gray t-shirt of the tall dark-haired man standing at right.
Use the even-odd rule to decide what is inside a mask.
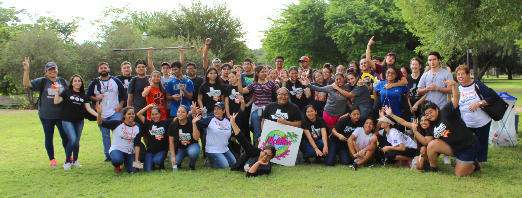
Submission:
[[[432,71],[424,73],[419,82],[419,88],[426,88],[431,84],[435,84],[437,87],[446,88],[447,86],[442,82],[445,80],[453,80],[452,73],[446,69],[441,68],[437,73],[433,74]],[[428,91],[426,92],[426,100],[431,100],[437,104],[438,108],[444,107],[444,104],[448,102],[447,94],[439,91]]]

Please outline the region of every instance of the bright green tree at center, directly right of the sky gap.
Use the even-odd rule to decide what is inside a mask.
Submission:
[[[310,66],[323,63],[347,64],[348,56],[337,49],[327,36],[325,28],[328,4],[323,0],[300,0],[280,10],[277,18],[268,18],[272,24],[264,31],[263,49],[268,60],[282,55],[285,67],[299,65],[301,56],[310,58]]]

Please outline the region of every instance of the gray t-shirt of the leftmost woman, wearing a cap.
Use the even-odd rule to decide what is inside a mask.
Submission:
[[[43,119],[62,119],[63,115],[63,102],[60,104],[54,104],[54,91],[56,91],[54,87],[54,82],[49,77],[45,77],[47,80],[45,82],[45,86],[42,91],[42,99],[40,99],[39,107],[38,107],[38,115]],[[40,91],[42,86],[42,80],[44,78],[37,78],[29,81],[31,83],[32,88],[29,88],[31,91]],[[69,84],[63,85],[62,81],[58,78],[56,79],[58,83],[62,87],[67,87]],[[65,80],[67,83],[67,80]],[[64,89],[60,89],[60,94]]]

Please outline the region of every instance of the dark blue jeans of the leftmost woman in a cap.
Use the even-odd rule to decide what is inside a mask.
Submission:
[[[54,159],[54,126],[58,128],[58,133],[60,133],[60,137],[62,137],[62,145],[64,147],[64,151],[67,149],[67,142],[69,139],[64,132],[62,126],[62,119],[45,119],[40,118],[40,122],[42,122],[43,133],[45,134],[45,149],[47,150],[47,156],[49,156],[49,160]],[[70,157],[69,157],[70,158]]]

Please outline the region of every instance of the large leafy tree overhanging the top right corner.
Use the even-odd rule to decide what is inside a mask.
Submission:
[[[522,37],[518,0],[398,0],[397,6],[409,30],[420,38],[422,45],[416,52],[438,51],[454,57],[473,49],[473,54],[492,54],[478,64],[482,70],[475,78],[479,80],[498,57],[512,55],[515,41]]]

